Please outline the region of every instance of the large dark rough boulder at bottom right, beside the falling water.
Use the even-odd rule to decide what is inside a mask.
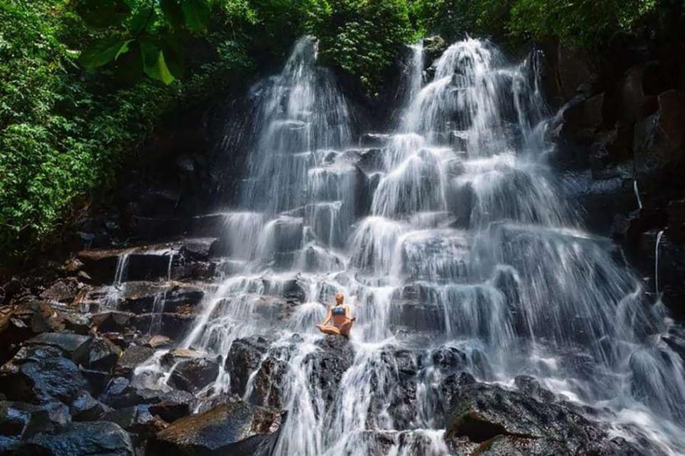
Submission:
[[[465,385],[450,405],[445,441],[457,451],[463,439],[482,454],[616,454],[609,435],[562,405],[542,403],[494,385]],[[486,443],[487,442],[487,443]]]

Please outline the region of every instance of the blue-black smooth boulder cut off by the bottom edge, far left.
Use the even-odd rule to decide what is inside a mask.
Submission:
[[[108,421],[72,423],[57,434],[41,433],[19,447],[17,455],[133,456],[131,437]]]

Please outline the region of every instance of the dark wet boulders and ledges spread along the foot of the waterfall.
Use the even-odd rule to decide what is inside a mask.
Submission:
[[[202,274],[184,271],[188,264],[198,266],[193,271],[215,267],[215,246],[215,239],[203,238],[131,249],[120,289],[101,285],[116,281],[120,249],[80,252],[54,269],[58,276],[46,285],[7,284],[0,323],[1,454],[269,455],[288,420],[281,402],[288,365],[268,351],[271,336],[238,339],[218,356],[176,348],[210,287]],[[155,309],[160,294],[164,307]],[[283,318],[301,299],[303,291],[293,284],[265,299],[265,312]],[[171,371],[166,388],[153,390],[141,385],[136,368],[155,353]],[[309,380],[331,405],[355,350],[345,338],[326,336],[310,356],[315,368]],[[639,430],[609,427],[608,410],[570,403],[532,377],[521,375],[509,385],[477,382],[465,372],[473,360],[456,348],[388,349],[381,359],[397,383],[387,402],[372,408],[385,409],[407,428],[425,406],[417,378],[439,371],[432,372],[441,398],[432,413],[454,454],[659,452],[646,439],[635,440]],[[220,371],[230,374],[230,394],[213,390]],[[366,433],[377,455],[402,440],[420,445],[420,435],[411,432]]]

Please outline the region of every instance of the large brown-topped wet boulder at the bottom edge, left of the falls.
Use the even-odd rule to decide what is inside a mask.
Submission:
[[[176,420],[148,442],[147,450],[166,456],[266,456],[273,451],[280,425],[278,415],[236,399]]]

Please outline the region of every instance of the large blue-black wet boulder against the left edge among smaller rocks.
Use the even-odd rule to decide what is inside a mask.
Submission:
[[[0,368],[0,390],[11,400],[71,403],[88,383],[59,348],[29,346]]]

